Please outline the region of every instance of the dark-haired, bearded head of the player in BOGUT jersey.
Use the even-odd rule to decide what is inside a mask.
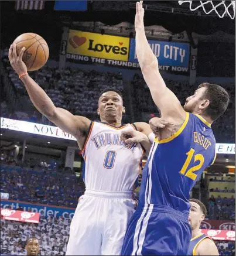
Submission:
[[[184,110],[191,113],[203,114],[212,121],[217,120],[228,107],[230,96],[227,91],[217,84],[203,83],[186,99]]]

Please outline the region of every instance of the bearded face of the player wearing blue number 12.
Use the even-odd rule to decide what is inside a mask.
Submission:
[[[194,94],[186,99],[184,110],[190,113],[204,111],[209,104],[209,101],[204,99],[206,90],[206,87],[201,87],[194,91]]]

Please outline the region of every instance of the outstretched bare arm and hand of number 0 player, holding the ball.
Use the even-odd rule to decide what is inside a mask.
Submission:
[[[27,73],[26,65],[22,61],[24,52],[25,47],[22,48],[18,56],[16,45],[11,45],[9,49],[8,57],[11,66],[18,75]],[[78,146],[82,149],[90,126],[90,120],[86,117],[75,116],[63,108],[57,108],[45,91],[29,75],[23,76],[21,80],[25,84],[30,100],[37,110],[64,132],[73,135],[78,141]]]

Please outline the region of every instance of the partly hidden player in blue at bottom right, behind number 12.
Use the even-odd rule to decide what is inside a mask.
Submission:
[[[219,255],[214,241],[200,231],[201,221],[207,215],[206,207],[197,199],[190,199],[189,202],[191,204],[189,213],[191,240],[187,255]]]

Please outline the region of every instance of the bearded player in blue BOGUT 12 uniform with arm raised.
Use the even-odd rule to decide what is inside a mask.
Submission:
[[[159,73],[143,15],[142,1],[137,2],[136,55],[154,103],[162,118],[173,125],[160,129],[160,140],[155,139],[149,152],[138,209],[129,221],[122,255],[187,255],[190,190],[216,158],[211,124],[227,109],[229,95],[220,86],[204,83],[182,107]],[[155,118],[149,121],[154,123]]]

